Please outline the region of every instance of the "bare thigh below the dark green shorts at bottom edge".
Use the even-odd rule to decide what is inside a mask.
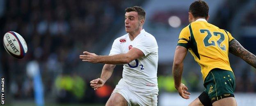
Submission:
[[[235,97],[227,97],[213,102],[213,106],[237,106]]]

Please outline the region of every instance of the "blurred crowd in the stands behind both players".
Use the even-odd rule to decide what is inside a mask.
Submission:
[[[115,68],[117,71],[114,71],[107,84],[94,92],[89,86],[91,79],[79,73],[82,71],[78,70],[78,64],[81,63],[79,55],[84,50],[92,49],[101,37],[107,36],[106,33],[113,26],[119,23],[123,25],[124,9],[133,4],[125,0],[3,0],[2,3],[5,4],[1,7],[4,12],[0,14],[1,35],[15,31],[23,36],[28,46],[27,55],[21,60],[11,57],[3,46],[0,47],[0,74],[8,79],[7,92],[11,97],[33,99],[35,72],[28,64],[36,61],[46,99],[61,103],[106,102],[121,78],[122,66],[117,66]],[[220,9],[218,13],[223,20],[231,18],[230,14],[234,12],[228,4],[226,5],[227,7]],[[256,25],[255,11],[256,8],[247,15],[244,24]],[[169,27],[163,20],[167,20],[168,16],[173,14],[182,17],[182,25],[188,23],[187,13],[183,14],[178,10],[159,12],[149,20],[155,22],[151,23],[152,26],[164,24]],[[219,24],[221,28],[229,30],[226,25],[228,23],[223,22]],[[235,62],[235,64],[240,63]],[[176,91],[169,65],[158,66],[160,93]],[[254,68],[247,67],[240,73],[235,73],[237,85],[245,86],[245,88],[237,86],[236,92],[256,92],[254,72],[256,72]],[[191,68],[182,82],[191,88],[191,92],[201,92],[203,82],[199,80],[202,80],[200,71],[198,68]]]

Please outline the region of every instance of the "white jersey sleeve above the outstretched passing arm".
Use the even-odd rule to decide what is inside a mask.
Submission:
[[[145,56],[158,50],[157,42],[153,36],[142,38],[139,43],[133,47],[141,50]]]

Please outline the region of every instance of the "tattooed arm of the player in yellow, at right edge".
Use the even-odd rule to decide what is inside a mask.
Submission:
[[[256,56],[247,51],[237,40],[231,40],[229,42],[229,52],[236,55],[254,68],[256,68]]]

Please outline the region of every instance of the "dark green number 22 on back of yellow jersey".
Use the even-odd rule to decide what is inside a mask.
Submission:
[[[211,34],[211,32],[208,29],[200,29],[200,33],[207,33],[206,37],[203,39],[203,44],[204,46],[208,47],[208,46],[215,46],[215,42],[217,42],[217,45],[219,46],[220,49],[226,51],[226,46],[223,44],[223,46],[220,46],[220,44],[225,40],[225,36],[223,33],[220,32],[213,32],[214,36],[220,36],[219,40],[217,41],[213,41],[211,40],[209,43],[209,40],[211,37],[213,37],[213,35]]]

